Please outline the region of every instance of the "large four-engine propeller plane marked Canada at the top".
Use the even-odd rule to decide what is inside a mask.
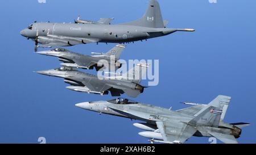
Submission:
[[[20,31],[27,39],[35,41],[38,47],[65,47],[88,43],[130,43],[153,37],[166,36],[176,31],[195,31],[193,29],[166,28],[168,21],[163,20],[158,1],[150,0],[146,13],[133,22],[110,25],[75,23],[37,23],[34,22]],[[90,23],[90,22],[89,22]],[[41,45],[39,45],[41,44]]]

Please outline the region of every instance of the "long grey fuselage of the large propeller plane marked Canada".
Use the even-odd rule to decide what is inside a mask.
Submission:
[[[20,33],[30,39],[36,36],[67,36],[96,39],[101,43],[127,43],[164,36],[177,31],[172,28],[149,28],[123,24],[33,23]],[[40,43],[40,40],[39,40]]]

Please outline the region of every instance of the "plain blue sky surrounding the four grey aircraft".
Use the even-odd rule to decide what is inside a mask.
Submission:
[[[159,0],[168,27],[195,28],[127,45],[121,58],[159,59],[160,81],[135,100],[174,110],[182,101],[209,103],[217,95],[232,102],[225,122],[248,122],[239,143],[256,142],[256,1]],[[30,23],[73,22],[112,18],[113,24],[138,19],[148,1],[37,0],[2,1],[0,5],[0,143],[148,143],[130,119],[98,115],[76,103],[113,99],[65,89],[61,78],[33,71],[59,67],[55,57],[35,54],[34,43],[19,32]],[[106,52],[115,44],[68,47],[89,55]],[[40,49],[39,49],[40,50]],[[87,72],[84,70],[84,72]],[[92,71],[89,71],[91,73]],[[146,82],[143,82],[146,83]],[[123,97],[127,97],[123,95]],[[218,141],[219,142],[219,141]],[[187,143],[209,143],[192,137]]]

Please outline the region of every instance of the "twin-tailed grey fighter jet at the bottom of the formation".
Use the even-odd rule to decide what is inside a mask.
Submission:
[[[145,131],[139,135],[151,143],[184,143],[191,136],[216,137],[224,143],[237,143],[242,127],[249,123],[224,123],[230,97],[218,95],[209,104],[184,103],[192,107],[173,111],[162,107],[142,104],[133,100],[117,98],[108,101],[76,104],[85,110],[141,120],[134,123]]]

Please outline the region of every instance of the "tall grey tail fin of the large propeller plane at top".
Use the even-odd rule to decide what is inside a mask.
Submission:
[[[141,19],[123,24],[131,26],[164,28],[162,13],[158,1],[150,0],[150,4],[147,7],[146,13],[142,16]]]

